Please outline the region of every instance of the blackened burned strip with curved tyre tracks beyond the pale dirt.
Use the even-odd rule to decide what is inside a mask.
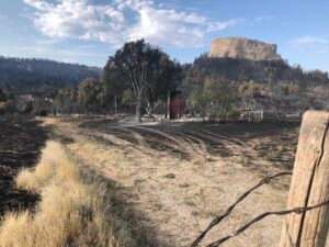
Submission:
[[[115,125],[113,125],[115,123]],[[241,156],[240,148],[234,151],[231,145],[253,149],[256,154],[281,166],[292,169],[298,138],[298,122],[264,122],[264,123],[170,123],[150,126],[122,127],[117,122],[92,121],[83,122],[80,127],[98,130],[125,139],[136,147],[147,145],[149,149],[166,151],[168,155],[191,160],[194,155],[188,146],[202,149],[209,156]],[[110,143],[107,143],[110,144]],[[184,145],[186,144],[186,145]],[[231,144],[231,145],[227,145]],[[114,145],[114,144],[112,144]],[[195,151],[197,151],[195,149]],[[252,167],[252,156],[243,154],[245,165]],[[247,164],[248,161],[248,164]]]

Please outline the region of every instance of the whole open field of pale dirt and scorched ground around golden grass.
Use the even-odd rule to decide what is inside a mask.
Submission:
[[[49,128],[32,120],[0,124],[2,214],[37,201],[15,188],[14,177],[36,164]],[[298,123],[140,125],[92,117],[44,119],[44,124],[87,175],[95,173],[107,186],[120,229],[131,232],[138,246],[170,247],[191,244],[259,179],[291,170],[299,128]],[[283,209],[288,184],[290,178],[277,179],[253,193],[205,243],[261,212]],[[260,222],[227,246],[272,246],[281,225],[279,217]]]

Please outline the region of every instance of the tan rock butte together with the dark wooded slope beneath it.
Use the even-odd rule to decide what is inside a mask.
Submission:
[[[277,54],[276,45],[243,37],[214,40],[211,52],[188,66],[185,80],[202,82],[207,77],[235,82],[329,83],[328,72],[291,66]]]

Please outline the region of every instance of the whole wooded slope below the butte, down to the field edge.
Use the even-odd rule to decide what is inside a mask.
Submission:
[[[211,58],[186,67],[182,88],[192,114],[220,119],[241,111],[275,115],[328,109],[328,72],[305,71],[284,60]]]

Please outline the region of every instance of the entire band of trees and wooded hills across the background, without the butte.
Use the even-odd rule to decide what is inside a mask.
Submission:
[[[38,100],[42,105],[53,102],[52,111],[58,113],[135,112],[138,119],[145,113],[167,114],[174,92],[183,96],[189,115],[227,119],[250,110],[300,114],[307,109],[329,109],[328,86],[328,72],[306,71],[284,60],[202,55],[181,65],[143,40],[124,44],[102,71],[48,60],[0,58],[0,88],[8,99],[15,102],[12,94],[31,92],[47,100]],[[20,99],[24,102],[29,97]]]

